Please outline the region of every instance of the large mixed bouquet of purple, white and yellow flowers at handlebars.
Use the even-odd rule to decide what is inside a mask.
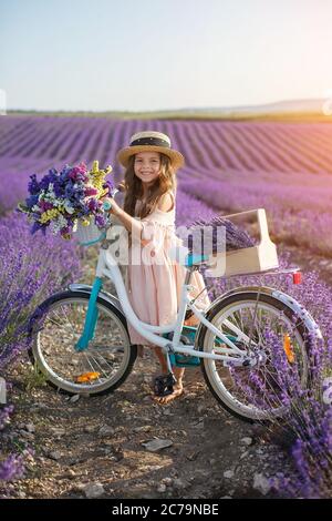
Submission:
[[[112,166],[100,170],[98,162],[94,161],[91,171],[85,163],[80,163],[65,165],[61,172],[51,168],[41,181],[33,174],[28,185],[30,195],[25,204],[18,205],[18,211],[33,223],[32,234],[39,229],[45,234],[50,228],[53,234],[70,239],[79,223],[102,228],[107,221],[103,202],[116,192],[112,181],[106,180],[111,172]]]

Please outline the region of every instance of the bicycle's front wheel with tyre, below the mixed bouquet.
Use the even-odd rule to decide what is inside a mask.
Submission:
[[[70,395],[103,395],[129,375],[137,356],[126,320],[107,300],[97,298],[94,338],[75,350],[85,323],[89,294],[65,292],[40,306],[30,357],[46,381]]]

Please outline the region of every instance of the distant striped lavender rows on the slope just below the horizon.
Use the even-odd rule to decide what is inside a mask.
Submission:
[[[117,126],[120,125],[120,129]],[[331,173],[330,125],[188,121],[115,121],[89,118],[18,118],[0,120],[0,155],[91,161],[107,157],[125,144],[128,129],[159,126],[181,145],[188,164],[204,168]],[[114,135],[110,139],[111,135]],[[111,154],[111,159],[114,159]]]

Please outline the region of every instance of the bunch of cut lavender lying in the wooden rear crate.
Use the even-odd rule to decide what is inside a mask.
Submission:
[[[224,242],[220,244],[218,241],[219,226],[226,228],[226,244],[224,244]],[[188,248],[190,252],[194,251],[195,245],[198,245],[199,253],[201,253],[200,246],[204,243],[212,246],[212,254],[255,246],[255,241],[245,229],[221,216],[212,217],[210,221],[195,221],[188,228],[190,229],[188,237]]]

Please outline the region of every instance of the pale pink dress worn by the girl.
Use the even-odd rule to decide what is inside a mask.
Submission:
[[[138,205],[139,201],[136,203],[136,215]],[[128,264],[126,289],[132,307],[141,320],[154,326],[165,326],[176,320],[180,292],[187,272],[184,266],[172,260],[168,254],[172,246],[183,244],[183,241],[175,234],[175,204],[169,212],[154,210],[141,223],[143,224],[142,238],[151,242],[142,247],[138,242],[133,241],[129,247],[129,259],[137,259],[141,256],[141,263]],[[138,254],[135,252],[136,248],[138,248]],[[199,272],[191,274],[190,285],[195,286],[195,289],[190,292],[191,297],[205,287]],[[204,292],[195,304],[199,309],[205,309],[210,304],[207,292]],[[132,344],[152,345],[129,323],[128,331]]]

